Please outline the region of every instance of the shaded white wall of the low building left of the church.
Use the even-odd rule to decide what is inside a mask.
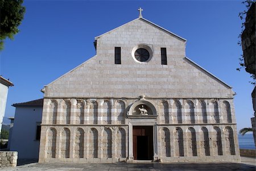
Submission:
[[[42,107],[16,107],[10,151],[18,151],[19,159],[38,159],[36,126],[41,120]]]

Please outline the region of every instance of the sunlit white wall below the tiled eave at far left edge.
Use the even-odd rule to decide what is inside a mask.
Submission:
[[[5,116],[8,86],[0,84],[0,132],[2,129],[3,116]]]

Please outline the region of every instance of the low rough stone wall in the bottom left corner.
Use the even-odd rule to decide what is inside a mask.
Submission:
[[[17,165],[18,152],[1,151],[0,152],[0,168],[15,167]]]

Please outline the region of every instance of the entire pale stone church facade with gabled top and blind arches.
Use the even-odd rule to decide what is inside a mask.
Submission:
[[[239,162],[232,87],[139,18],[44,87],[39,162]]]

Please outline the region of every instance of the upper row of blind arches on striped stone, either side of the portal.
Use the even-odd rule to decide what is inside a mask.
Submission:
[[[148,99],[158,124],[236,123],[233,99]],[[129,124],[126,113],[135,99],[45,98],[42,124]],[[67,105],[68,104],[68,105]]]

